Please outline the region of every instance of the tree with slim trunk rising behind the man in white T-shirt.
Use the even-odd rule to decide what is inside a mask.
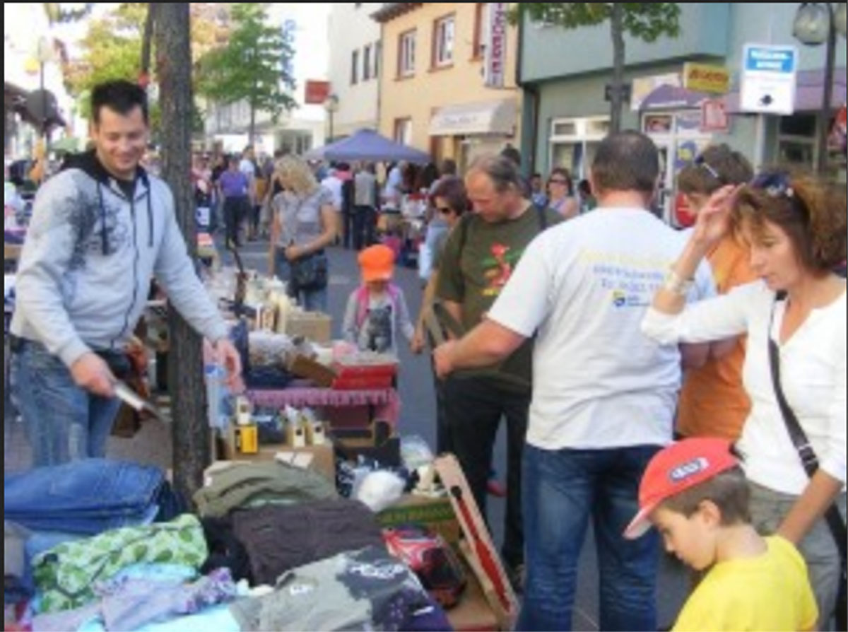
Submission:
[[[610,23],[612,39],[612,81],[610,127],[621,128],[624,76],[624,36],[656,42],[661,36],[676,37],[680,32],[678,3],[518,3],[510,15],[515,23],[523,16],[558,25],[566,30]]]

